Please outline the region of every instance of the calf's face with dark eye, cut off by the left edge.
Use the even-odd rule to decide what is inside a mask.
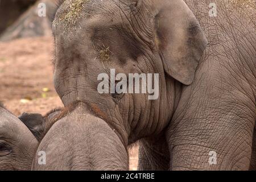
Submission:
[[[0,103],[0,171],[30,170],[38,144],[30,130]]]

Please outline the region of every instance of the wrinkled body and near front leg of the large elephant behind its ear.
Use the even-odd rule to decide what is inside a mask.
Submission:
[[[255,170],[255,4],[254,9],[234,9],[230,3],[226,7],[225,1],[214,1],[217,17],[212,18],[205,8],[211,2],[187,1],[209,45],[194,82],[182,90],[166,132],[170,169]],[[156,147],[153,156],[164,147],[150,144]],[[143,163],[150,162],[147,151],[150,147],[143,148]],[[216,165],[208,163],[210,151],[217,154]],[[158,168],[154,162],[150,166]]]

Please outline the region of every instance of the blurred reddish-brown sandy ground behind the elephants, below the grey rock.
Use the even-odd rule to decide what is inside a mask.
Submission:
[[[46,114],[63,104],[53,86],[53,39],[28,38],[0,43],[0,101],[16,115]],[[130,150],[136,170],[138,148]]]

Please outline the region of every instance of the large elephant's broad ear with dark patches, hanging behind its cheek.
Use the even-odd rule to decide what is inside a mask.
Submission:
[[[208,43],[200,24],[181,0],[152,1],[152,5],[156,8],[155,40],[164,71],[190,85]]]

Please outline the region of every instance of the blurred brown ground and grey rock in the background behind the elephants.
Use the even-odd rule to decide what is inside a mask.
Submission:
[[[52,81],[56,1],[0,0],[0,101],[15,115],[46,114],[63,106]],[[134,147],[130,169],[137,163]]]

